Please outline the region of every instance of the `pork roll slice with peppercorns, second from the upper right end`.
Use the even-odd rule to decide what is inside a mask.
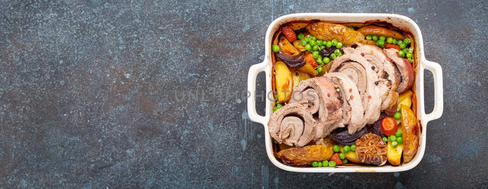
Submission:
[[[398,93],[395,91],[399,78],[395,71],[395,65],[390,62],[386,54],[376,45],[360,45],[354,53],[361,54],[369,63],[371,69],[378,76],[378,89],[381,97],[381,110],[390,111],[398,104]],[[376,84],[376,83],[375,83]]]

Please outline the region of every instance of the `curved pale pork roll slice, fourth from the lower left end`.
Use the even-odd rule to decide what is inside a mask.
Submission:
[[[329,73],[345,73],[356,84],[365,110],[363,126],[374,123],[380,117],[381,98],[375,84],[378,76],[371,66],[360,54],[345,54],[334,59],[329,69]]]

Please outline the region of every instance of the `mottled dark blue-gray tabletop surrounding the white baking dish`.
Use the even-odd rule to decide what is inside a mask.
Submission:
[[[487,4],[0,0],[0,187],[487,187]],[[244,90],[269,23],[300,12],[418,23],[445,101],[416,168],[287,172],[269,162],[245,99],[175,101],[173,90]],[[425,95],[431,110],[433,89]]]

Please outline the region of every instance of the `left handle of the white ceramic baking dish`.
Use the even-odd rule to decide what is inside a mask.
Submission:
[[[267,123],[266,118],[269,117],[268,106],[269,103],[266,103],[266,113],[264,116],[260,116],[256,112],[256,77],[259,73],[265,72],[266,73],[266,86],[268,86],[271,81],[269,75],[269,70],[267,69],[267,61],[264,60],[262,63],[254,64],[249,68],[249,73],[247,74],[247,91],[250,93],[249,98],[247,98],[247,115],[249,115],[249,119],[253,122],[258,122],[263,124],[264,126]],[[268,101],[266,97],[266,102]]]

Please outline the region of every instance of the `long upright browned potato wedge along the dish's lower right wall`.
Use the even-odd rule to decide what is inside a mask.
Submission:
[[[419,146],[419,126],[413,111],[406,105],[401,105],[403,127],[403,160],[405,163],[412,160]]]

